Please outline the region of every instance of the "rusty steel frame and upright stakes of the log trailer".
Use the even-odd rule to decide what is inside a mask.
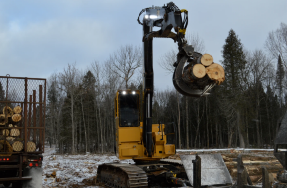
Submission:
[[[46,79],[40,79],[40,78],[28,78],[28,77],[10,77],[10,76],[0,76],[0,78],[4,78],[4,79],[7,79],[7,88],[6,88],[6,101],[0,101],[0,103],[6,103],[6,107],[7,107],[7,104],[8,103],[20,103],[21,104],[21,107],[23,109],[23,104],[24,104],[24,128],[23,127],[17,127],[17,128],[13,128],[13,129],[19,129],[19,131],[22,131],[22,129],[24,129],[24,152],[0,152],[0,154],[41,154],[41,153],[44,153],[45,152],[45,147],[44,147],[44,140],[45,140],[45,114],[46,114],[46,85],[47,85],[47,81]],[[24,80],[24,91],[25,91],[25,94],[24,94],[24,102],[23,101],[7,101],[7,97],[8,97],[8,80],[9,79],[22,79]],[[34,97],[34,100],[33,102],[30,100],[28,102],[28,80],[41,80],[41,81],[44,81],[44,99],[43,99],[43,96],[42,96],[42,91],[43,91],[43,86],[42,85],[39,85],[39,102],[36,102],[36,90],[33,91],[33,97]],[[31,98],[32,98],[32,95],[31,95]],[[40,112],[40,117],[39,117],[39,127],[36,127],[35,123],[36,121],[33,121],[34,122],[34,127],[28,127],[28,104],[30,106],[36,106],[36,104],[39,105],[39,108],[43,109],[43,113],[42,111]],[[31,109],[31,108],[29,108]],[[22,113],[22,112],[21,112]],[[33,113],[35,114],[36,111],[33,110]],[[36,116],[34,116],[35,118]],[[29,120],[31,120],[29,118]],[[22,120],[21,120],[22,121]],[[43,122],[42,122],[43,121]],[[30,121],[29,121],[30,122]],[[0,127],[0,130],[1,129],[11,129],[9,127]],[[42,135],[39,135],[39,150],[42,150],[42,151],[37,151],[37,152],[27,152],[27,142],[28,142],[28,129],[29,129],[29,132],[30,132],[30,129],[38,129],[40,131],[40,134]],[[34,132],[35,134],[35,132]],[[33,134],[33,140],[34,140],[34,137],[36,137],[36,135],[34,136]],[[6,137],[5,137],[6,139]],[[6,145],[4,144],[4,147]],[[1,181],[1,179],[0,179]]]

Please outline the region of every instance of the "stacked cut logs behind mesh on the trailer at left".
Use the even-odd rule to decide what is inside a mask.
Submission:
[[[3,112],[3,113],[2,113]],[[16,106],[4,107],[0,114],[0,152],[20,152],[23,150],[23,138],[21,137],[20,130],[17,124],[22,120],[22,107]],[[7,129],[6,129],[7,128]],[[36,150],[34,142],[27,142],[27,151],[33,152]],[[0,154],[11,155],[11,154]]]

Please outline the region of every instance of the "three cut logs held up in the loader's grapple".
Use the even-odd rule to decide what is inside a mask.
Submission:
[[[213,83],[220,85],[225,75],[223,67],[214,63],[210,54],[203,54],[189,62],[183,70],[182,79],[192,89],[202,90]]]

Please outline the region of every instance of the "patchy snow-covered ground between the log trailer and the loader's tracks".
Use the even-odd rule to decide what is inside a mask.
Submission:
[[[133,160],[119,160],[116,156],[108,154],[55,155],[55,160],[50,160],[50,158],[53,156],[44,156],[42,187],[97,187],[88,185],[94,181],[99,164],[106,162],[133,163]],[[50,176],[53,171],[56,172],[56,178]],[[83,180],[84,182],[82,182]],[[90,183],[87,183],[87,180]]]

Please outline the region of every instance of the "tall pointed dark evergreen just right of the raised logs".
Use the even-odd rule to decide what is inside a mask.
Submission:
[[[241,70],[244,70],[246,60],[243,53],[243,44],[241,44],[238,35],[234,30],[230,30],[222,50],[222,64],[225,71],[225,85],[228,90],[238,91],[242,78]]]

